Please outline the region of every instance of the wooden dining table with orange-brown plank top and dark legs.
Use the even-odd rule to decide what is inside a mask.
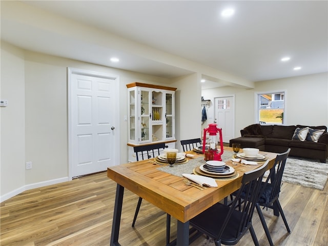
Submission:
[[[232,151],[232,148],[224,147],[224,151]],[[195,152],[186,153],[194,154],[194,158],[202,156]],[[260,154],[269,159],[268,169],[273,167],[277,154],[270,152],[260,152]],[[241,165],[240,162],[232,163],[231,160],[226,161],[226,164],[237,169]],[[107,176],[117,183],[110,245],[120,245],[118,237],[125,188],[175,217],[177,219],[176,243],[184,246],[189,245],[189,220],[238,190],[243,173],[260,166],[260,163],[256,166],[242,166],[240,167],[242,171],[236,170],[238,177],[216,180],[218,187],[203,190],[187,186],[183,177],[158,170],[158,165],[154,165],[149,160],[109,167]]]

